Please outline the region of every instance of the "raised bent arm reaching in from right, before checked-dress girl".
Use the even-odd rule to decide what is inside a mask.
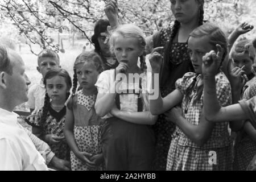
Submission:
[[[202,73],[204,75],[204,113],[205,118],[212,122],[246,119],[240,104],[221,107],[216,94],[215,75],[220,67],[223,51],[216,46],[218,53],[210,51],[203,56]]]

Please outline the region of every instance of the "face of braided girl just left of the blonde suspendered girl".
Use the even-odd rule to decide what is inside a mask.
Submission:
[[[99,72],[91,61],[86,61],[77,65],[76,75],[83,89],[93,89],[95,88]]]

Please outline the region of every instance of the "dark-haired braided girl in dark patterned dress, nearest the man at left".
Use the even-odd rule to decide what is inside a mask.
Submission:
[[[63,129],[65,102],[72,87],[71,77],[65,69],[52,69],[44,76],[43,83],[46,85],[44,106],[28,116],[26,122],[32,126],[33,134],[49,144],[57,158],[69,160]]]

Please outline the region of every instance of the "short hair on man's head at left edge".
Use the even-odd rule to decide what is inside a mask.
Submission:
[[[3,45],[0,45],[0,72],[13,74],[13,64],[11,64],[7,48]]]

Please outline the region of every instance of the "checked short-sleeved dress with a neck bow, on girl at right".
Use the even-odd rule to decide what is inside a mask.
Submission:
[[[201,75],[186,73],[176,82],[176,89],[183,93],[181,108],[184,118],[193,125],[199,125],[203,109],[203,94],[196,100],[199,87],[197,83]],[[188,93],[189,95],[186,95]],[[231,88],[228,78],[223,72],[216,75],[218,101],[222,106],[232,102]],[[172,134],[172,141],[167,159],[167,170],[231,170],[232,169],[232,140],[228,131],[229,122],[215,123],[208,141],[202,146],[192,142],[179,127]],[[216,152],[216,162],[210,163],[212,152]],[[214,162],[214,160],[213,160]]]

